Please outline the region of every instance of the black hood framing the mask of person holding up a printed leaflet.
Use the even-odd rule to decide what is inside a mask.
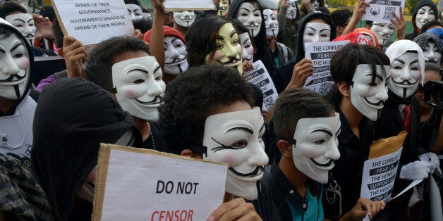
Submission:
[[[334,25],[334,22],[332,21],[331,15],[328,15],[327,13],[322,13],[320,11],[311,11],[298,22],[297,55],[296,55],[297,62],[305,58],[305,48],[303,47],[303,32],[305,32],[306,23],[309,23],[310,20],[316,18],[324,20],[329,26],[331,26],[330,41],[335,39],[336,27]]]

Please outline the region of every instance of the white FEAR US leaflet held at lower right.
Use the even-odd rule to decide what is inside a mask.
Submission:
[[[403,147],[394,153],[365,161],[360,196],[371,201],[389,201],[402,149]]]

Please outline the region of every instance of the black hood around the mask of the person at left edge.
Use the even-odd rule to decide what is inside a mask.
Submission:
[[[20,39],[21,42],[23,42],[23,45],[26,48],[27,54],[26,56],[29,59],[29,68],[27,69],[27,78],[28,78],[28,82],[25,82],[25,88],[23,89],[23,92],[20,91],[20,95],[17,95],[19,98],[17,99],[18,102],[16,103],[16,106],[18,105],[18,103],[20,103],[23,98],[26,96],[26,94],[28,94],[28,91],[30,90],[31,87],[31,83],[32,83],[32,72],[33,72],[33,64],[34,64],[34,56],[32,55],[32,48],[29,45],[28,41],[25,39],[25,37],[23,37],[23,35],[16,30],[15,27],[13,27],[13,25],[11,25],[11,23],[8,23],[6,20],[4,20],[3,18],[0,18],[0,37],[4,36],[5,34],[14,34],[16,37],[18,37]],[[11,87],[15,87],[15,86],[11,86]],[[18,94],[18,91],[16,89],[16,94]],[[0,96],[2,96],[2,94],[0,94]]]

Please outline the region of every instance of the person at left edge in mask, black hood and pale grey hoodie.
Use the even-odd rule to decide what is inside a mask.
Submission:
[[[38,97],[30,91],[34,57],[27,39],[1,18],[0,48],[0,153],[30,170],[32,119]]]

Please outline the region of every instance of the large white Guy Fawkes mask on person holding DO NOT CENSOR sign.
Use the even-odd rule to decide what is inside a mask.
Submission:
[[[226,192],[254,200],[268,158],[262,136],[265,122],[260,108],[210,115],[205,122],[204,160],[229,165]]]

